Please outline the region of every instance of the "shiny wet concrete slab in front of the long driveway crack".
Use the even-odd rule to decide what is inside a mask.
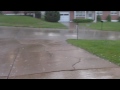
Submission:
[[[117,72],[118,71],[118,72]],[[114,74],[113,74],[114,73]],[[119,68],[60,71],[13,76],[10,79],[120,79]]]

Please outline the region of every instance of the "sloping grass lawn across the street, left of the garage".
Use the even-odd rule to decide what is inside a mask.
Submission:
[[[58,28],[66,29],[67,27],[61,23],[52,23],[43,19],[36,19],[29,16],[7,16],[0,15],[0,26],[16,26],[16,27],[34,27],[34,28]]]

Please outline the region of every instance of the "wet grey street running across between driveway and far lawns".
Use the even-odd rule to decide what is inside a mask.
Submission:
[[[120,32],[113,31],[99,31],[89,29],[79,29],[79,39],[104,39],[104,40],[119,40]],[[49,39],[49,40],[66,40],[76,39],[76,29],[68,30],[42,30],[42,29],[15,29],[13,30],[0,30],[0,38],[11,39]]]

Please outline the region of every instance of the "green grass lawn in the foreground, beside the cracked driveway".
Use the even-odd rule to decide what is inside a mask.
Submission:
[[[120,40],[67,40],[68,43],[120,66]]]

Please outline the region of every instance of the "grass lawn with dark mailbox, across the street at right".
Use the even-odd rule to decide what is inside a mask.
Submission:
[[[80,23],[79,25],[86,26],[91,29],[101,30],[101,22],[91,23],[89,26],[85,23]],[[104,22],[103,29],[106,31],[120,31],[120,22]]]

